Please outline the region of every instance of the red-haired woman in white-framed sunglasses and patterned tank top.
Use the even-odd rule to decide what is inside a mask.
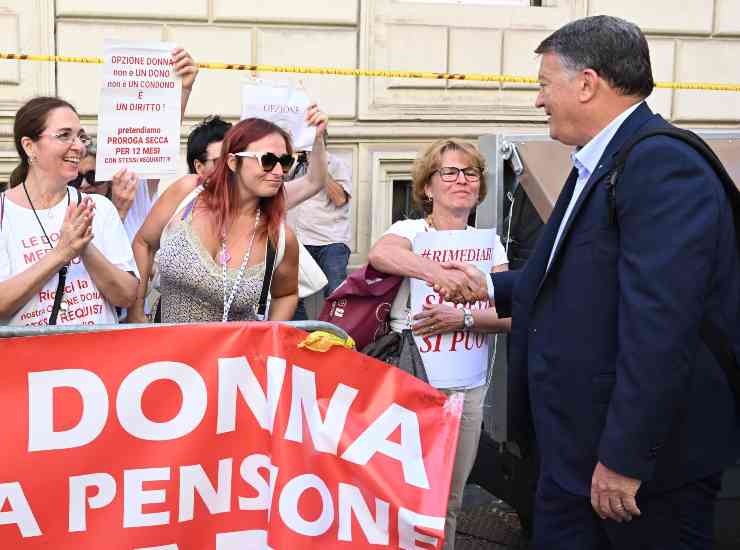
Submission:
[[[313,106],[307,120],[317,126],[314,151],[325,159],[326,116]],[[134,239],[142,276],[129,321],[145,321],[144,297],[157,250],[162,322],[254,320],[265,282],[269,319],[290,320],[298,302],[298,241],[285,225],[285,211],[310,196],[302,189],[291,196],[284,187],[293,162],[290,136],[251,118],[227,132],[212,175],[173,183]],[[309,179],[324,180],[326,162],[317,165]],[[271,282],[265,281],[268,240],[276,251]]]

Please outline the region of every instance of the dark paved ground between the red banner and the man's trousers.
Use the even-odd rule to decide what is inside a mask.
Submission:
[[[465,488],[455,550],[526,550],[516,513],[477,485]]]

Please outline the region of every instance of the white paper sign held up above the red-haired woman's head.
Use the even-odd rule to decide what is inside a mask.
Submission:
[[[310,151],[316,127],[306,122],[308,94],[288,82],[246,78],[242,84],[242,120],[264,118],[290,134],[293,149]]]

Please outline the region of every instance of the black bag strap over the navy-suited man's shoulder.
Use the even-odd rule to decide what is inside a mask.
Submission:
[[[680,128],[658,128],[649,130],[633,137],[617,154],[616,166],[609,178],[607,184],[607,200],[609,201],[609,223],[617,225],[617,203],[616,203],[616,184],[619,176],[624,170],[624,165],[630,151],[642,140],[653,136],[668,136],[678,139],[699,153],[712,167],[717,177],[722,182],[727,200],[732,210],[732,218],[735,223],[735,246],[740,255],[740,190],[735,186],[732,178],[722,165],[722,161],[715,154],[711,147],[698,135],[690,130]],[[704,319],[699,327],[699,334],[706,346],[711,351],[714,359],[722,367],[727,376],[730,388],[735,394],[735,402],[740,407],[740,366],[737,362],[732,342],[725,332],[715,325],[711,320]]]

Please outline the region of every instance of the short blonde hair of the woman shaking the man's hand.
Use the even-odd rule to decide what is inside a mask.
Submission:
[[[411,192],[414,204],[424,214],[431,214],[432,203],[427,200],[425,187],[432,179],[434,172],[442,166],[442,155],[447,151],[460,151],[470,157],[474,168],[480,172],[480,191],[478,195],[478,204],[483,202],[488,193],[488,183],[486,182],[486,160],[480,154],[478,148],[472,143],[455,138],[444,138],[432,143],[424,153],[414,161],[412,172]]]

